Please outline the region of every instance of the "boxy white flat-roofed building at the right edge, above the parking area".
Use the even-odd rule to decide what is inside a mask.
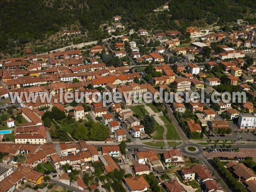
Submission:
[[[256,116],[251,113],[240,113],[237,124],[241,129],[255,129]]]

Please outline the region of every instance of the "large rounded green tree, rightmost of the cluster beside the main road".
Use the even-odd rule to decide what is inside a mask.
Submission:
[[[104,141],[107,139],[109,129],[100,122],[93,123],[90,127],[90,139],[95,141]]]

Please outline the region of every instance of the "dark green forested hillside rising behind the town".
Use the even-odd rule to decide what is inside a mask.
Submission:
[[[1,51],[29,41],[44,41],[63,26],[77,24],[90,39],[103,38],[99,26],[122,15],[122,22],[133,29],[165,31],[204,26],[246,17],[255,22],[255,0],[171,0],[169,12],[153,10],[166,0],[1,0]],[[254,15],[253,15],[254,14]]]

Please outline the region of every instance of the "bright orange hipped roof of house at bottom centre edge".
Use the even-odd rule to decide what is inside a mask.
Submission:
[[[124,180],[132,191],[142,191],[143,189],[150,187],[143,176],[126,177]]]

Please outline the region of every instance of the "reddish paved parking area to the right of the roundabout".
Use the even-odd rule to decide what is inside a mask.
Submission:
[[[235,157],[253,157],[253,160],[256,161],[256,150],[253,148],[240,148],[239,152],[235,151],[222,151],[222,152],[204,152],[205,156],[208,159],[212,159],[213,157],[228,157],[228,158],[235,158]]]

